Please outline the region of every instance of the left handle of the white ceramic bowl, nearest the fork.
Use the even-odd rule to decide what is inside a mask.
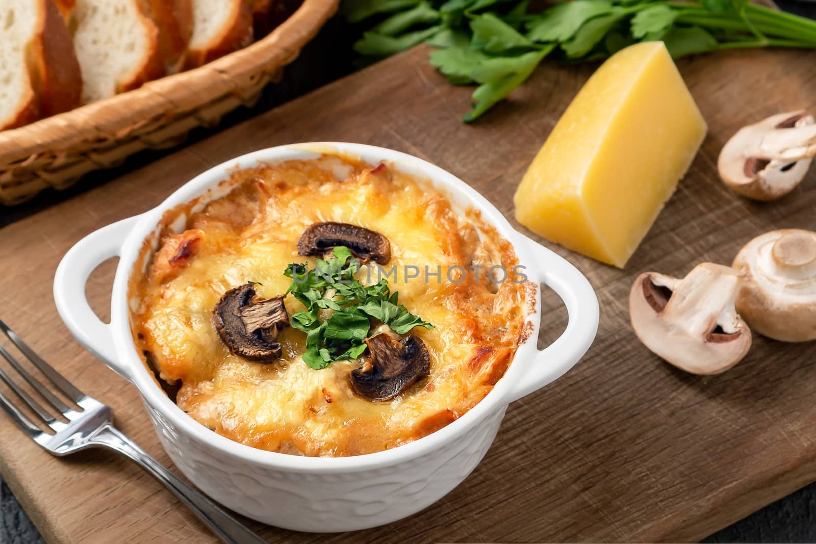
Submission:
[[[54,276],[54,301],[65,325],[86,349],[123,378],[130,380],[119,363],[111,326],[96,316],[85,296],[88,276],[101,263],[117,257],[122,242],[139,216],[91,232],[74,245],[60,261]]]

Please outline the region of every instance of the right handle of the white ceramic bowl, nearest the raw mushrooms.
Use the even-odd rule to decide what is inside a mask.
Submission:
[[[540,314],[533,316],[533,331],[528,343],[519,351],[528,351],[528,356],[518,357],[526,365],[509,391],[508,402],[521,399],[533,391],[544,387],[571,369],[587,352],[598,330],[598,299],[595,290],[578,268],[530,239],[526,248],[531,255],[532,268],[526,268],[526,275],[537,284],[544,284],[561,297],[566,306],[568,321],[566,329],[555,342],[544,349],[536,347],[539,334]],[[539,293],[539,312],[541,294]],[[534,353],[537,351],[538,353]]]

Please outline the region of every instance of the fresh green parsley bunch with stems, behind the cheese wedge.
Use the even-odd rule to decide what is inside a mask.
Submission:
[[[672,57],[741,47],[816,48],[816,22],[747,0],[572,0],[530,13],[529,0],[344,0],[351,22],[378,20],[355,43],[370,60],[421,42],[455,85],[477,84],[471,122],[521,85],[551,53],[598,60],[662,40]]]

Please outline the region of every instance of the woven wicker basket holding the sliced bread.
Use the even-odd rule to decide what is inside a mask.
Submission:
[[[251,105],[264,86],[337,10],[339,0],[304,0],[266,38],[201,68],[0,132],[0,202],[19,204],[49,186],[67,188],[91,170],[117,166],[145,148],[180,144],[197,126]]]

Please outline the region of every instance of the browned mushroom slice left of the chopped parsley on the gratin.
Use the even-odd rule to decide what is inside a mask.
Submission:
[[[289,325],[283,295],[256,301],[255,287],[241,285],[228,290],[215,304],[212,321],[235,355],[264,363],[281,356],[277,334]]]

